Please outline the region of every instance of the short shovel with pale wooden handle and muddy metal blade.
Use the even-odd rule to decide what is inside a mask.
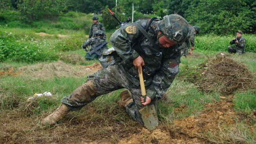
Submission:
[[[139,70],[139,68],[138,68]],[[142,75],[142,68],[140,67],[139,70],[139,82],[141,85],[141,95],[144,98],[144,102],[146,101],[146,90]],[[158,117],[156,114],[156,109],[153,104],[146,105],[142,109],[139,110],[141,113],[141,117],[143,119],[143,122],[148,130],[154,130],[156,126],[158,125]]]

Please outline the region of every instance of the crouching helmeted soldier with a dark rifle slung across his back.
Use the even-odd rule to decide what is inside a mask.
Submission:
[[[106,40],[103,39],[104,33],[100,30],[95,32],[95,38],[89,38],[83,42],[82,48],[87,51],[86,59],[100,58],[100,52],[108,49]],[[87,48],[89,46],[89,49]]]

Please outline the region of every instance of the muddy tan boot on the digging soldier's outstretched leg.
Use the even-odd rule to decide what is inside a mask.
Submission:
[[[48,115],[46,118],[44,118],[41,121],[41,124],[43,126],[45,125],[54,125],[56,122],[58,122],[60,119],[62,119],[65,115],[67,115],[70,112],[69,108],[65,104],[61,104],[55,112]]]

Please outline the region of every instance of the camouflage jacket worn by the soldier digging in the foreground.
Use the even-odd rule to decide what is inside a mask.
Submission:
[[[147,26],[148,20],[138,20],[137,23],[143,29]],[[149,27],[148,34],[158,45],[156,40],[156,20]],[[122,72],[134,83],[139,86],[138,70],[133,65],[133,59],[141,56],[145,62],[142,66],[143,78],[146,86],[146,94],[154,99],[161,99],[173,80],[178,74],[178,65],[180,63],[180,45],[176,44],[169,48],[158,49],[162,52],[160,55],[154,54],[157,52],[152,44],[134,25],[129,23],[117,29],[110,37],[111,44],[117,54],[123,59],[119,63]]]

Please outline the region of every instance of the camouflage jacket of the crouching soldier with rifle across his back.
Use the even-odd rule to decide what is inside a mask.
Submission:
[[[91,51],[95,49],[95,46],[98,45],[99,43],[106,43],[106,40],[103,40],[100,36],[97,36],[95,38],[89,38],[88,40],[83,42],[82,47],[83,49],[86,49],[86,47],[89,45],[89,51]],[[105,45],[103,49],[108,49],[108,46]]]

